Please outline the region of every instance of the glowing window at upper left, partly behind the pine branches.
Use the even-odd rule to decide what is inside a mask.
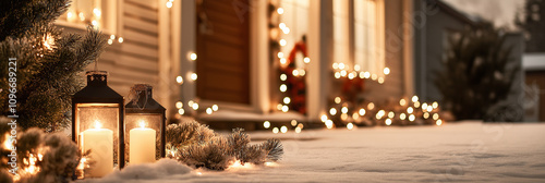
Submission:
[[[82,29],[92,24],[107,34],[118,34],[119,3],[120,0],[72,0],[56,24]]]

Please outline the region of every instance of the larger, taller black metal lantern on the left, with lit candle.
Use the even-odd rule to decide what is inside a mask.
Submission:
[[[78,167],[84,178],[124,167],[123,101],[108,87],[106,71],[87,71],[87,86],[72,98],[72,141],[82,152],[90,150]]]

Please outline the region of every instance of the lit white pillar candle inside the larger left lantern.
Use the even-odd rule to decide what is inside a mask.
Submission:
[[[95,129],[82,133],[83,149],[90,149],[89,157],[94,164],[86,175],[100,178],[113,171],[113,132],[109,129],[100,129],[100,122],[95,122]]]

